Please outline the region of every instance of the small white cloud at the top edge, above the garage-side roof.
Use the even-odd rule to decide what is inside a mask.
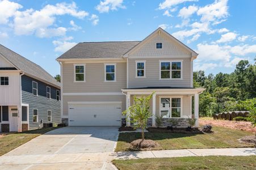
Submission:
[[[114,11],[117,8],[125,8],[123,5],[123,0],[104,0],[100,1],[99,5],[96,6],[96,10],[100,13],[108,12],[110,10]]]

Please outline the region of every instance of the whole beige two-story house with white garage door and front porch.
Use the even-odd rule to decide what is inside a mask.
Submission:
[[[131,126],[121,112],[133,97],[155,92],[149,126],[198,120],[199,94],[193,87],[198,54],[161,28],[142,41],[81,42],[57,58],[61,65],[61,117],[69,126]],[[192,116],[194,96],[194,116]],[[196,121],[198,126],[198,121]]]

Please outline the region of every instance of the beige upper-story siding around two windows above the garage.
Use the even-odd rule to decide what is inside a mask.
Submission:
[[[116,63],[116,82],[104,82],[104,63],[85,63],[85,68],[86,82],[74,82],[74,64],[62,65],[64,93],[121,92],[121,88],[126,88],[126,63]]]

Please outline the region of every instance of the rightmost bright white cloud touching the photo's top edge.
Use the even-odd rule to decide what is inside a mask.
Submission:
[[[228,0],[215,0],[215,2],[200,7],[197,14],[202,15],[201,22],[216,22],[228,16]]]

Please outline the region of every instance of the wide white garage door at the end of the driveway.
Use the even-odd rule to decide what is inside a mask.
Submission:
[[[121,103],[69,104],[69,126],[121,126]]]

